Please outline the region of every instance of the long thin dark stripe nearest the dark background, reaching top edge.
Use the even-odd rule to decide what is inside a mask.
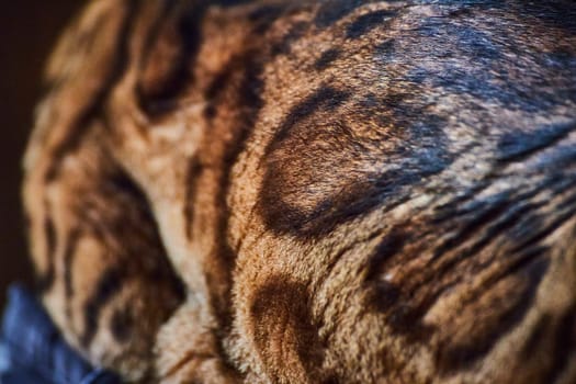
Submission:
[[[138,14],[138,0],[129,0],[126,9],[126,16],[123,25],[121,26],[120,36],[116,38],[116,53],[111,55],[111,60],[114,61],[113,70],[110,76],[102,81],[100,89],[97,94],[90,100],[90,103],[79,111],[76,121],[71,124],[74,129],[70,129],[70,134],[54,149],[53,160],[48,166],[45,174],[45,183],[49,183],[58,177],[60,163],[65,156],[75,150],[82,138],[84,132],[90,128],[89,123],[94,115],[101,112],[102,105],[109,97],[112,87],[122,78],[128,64],[128,36],[134,26],[134,21]]]

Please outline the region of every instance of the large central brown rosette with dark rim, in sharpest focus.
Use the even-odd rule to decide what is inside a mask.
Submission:
[[[456,158],[443,132],[445,116],[430,114],[408,97],[393,97],[396,108],[382,109],[389,95],[357,95],[357,103],[338,109],[351,95],[323,86],[291,109],[274,129],[264,149],[267,172],[258,202],[269,229],[304,238],[321,236],[371,210],[402,203],[414,185],[426,183]],[[352,114],[370,135],[348,125]],[[301,153],[306,156],[297,156]],[[360,161],[379,170],[359,171],[362,167],[354,159],[359,153]],[[343,161],[334,160],[338,158]],[[347,172],[347,167],[352,169]],[[301,171],[294,172],[296,168]],[[326,185],[325,192],[310,185]]]

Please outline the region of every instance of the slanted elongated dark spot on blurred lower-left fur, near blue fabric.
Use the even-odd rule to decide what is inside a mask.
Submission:
[[[80,336],[80,345],[84,349],[90,346],[97,334],[102,308],[120,293],[125,279],[125,266],[111,267],[101,274],[92,295],[83,306],[84,330]]]

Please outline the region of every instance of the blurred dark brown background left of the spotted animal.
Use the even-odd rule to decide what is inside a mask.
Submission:
[[[22,219],[21,158],[42,72],[59,33],[81,1],[4,1],[0,12],[0,306],[12,281],[32,282]],[[1,312],[1,309],[0,309]]]

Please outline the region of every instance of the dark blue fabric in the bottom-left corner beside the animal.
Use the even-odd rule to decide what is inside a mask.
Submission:
[[[30,292],[10,289],[0,334],[0,384],[115,383],[115,375],[92,368],[66,343]]]

